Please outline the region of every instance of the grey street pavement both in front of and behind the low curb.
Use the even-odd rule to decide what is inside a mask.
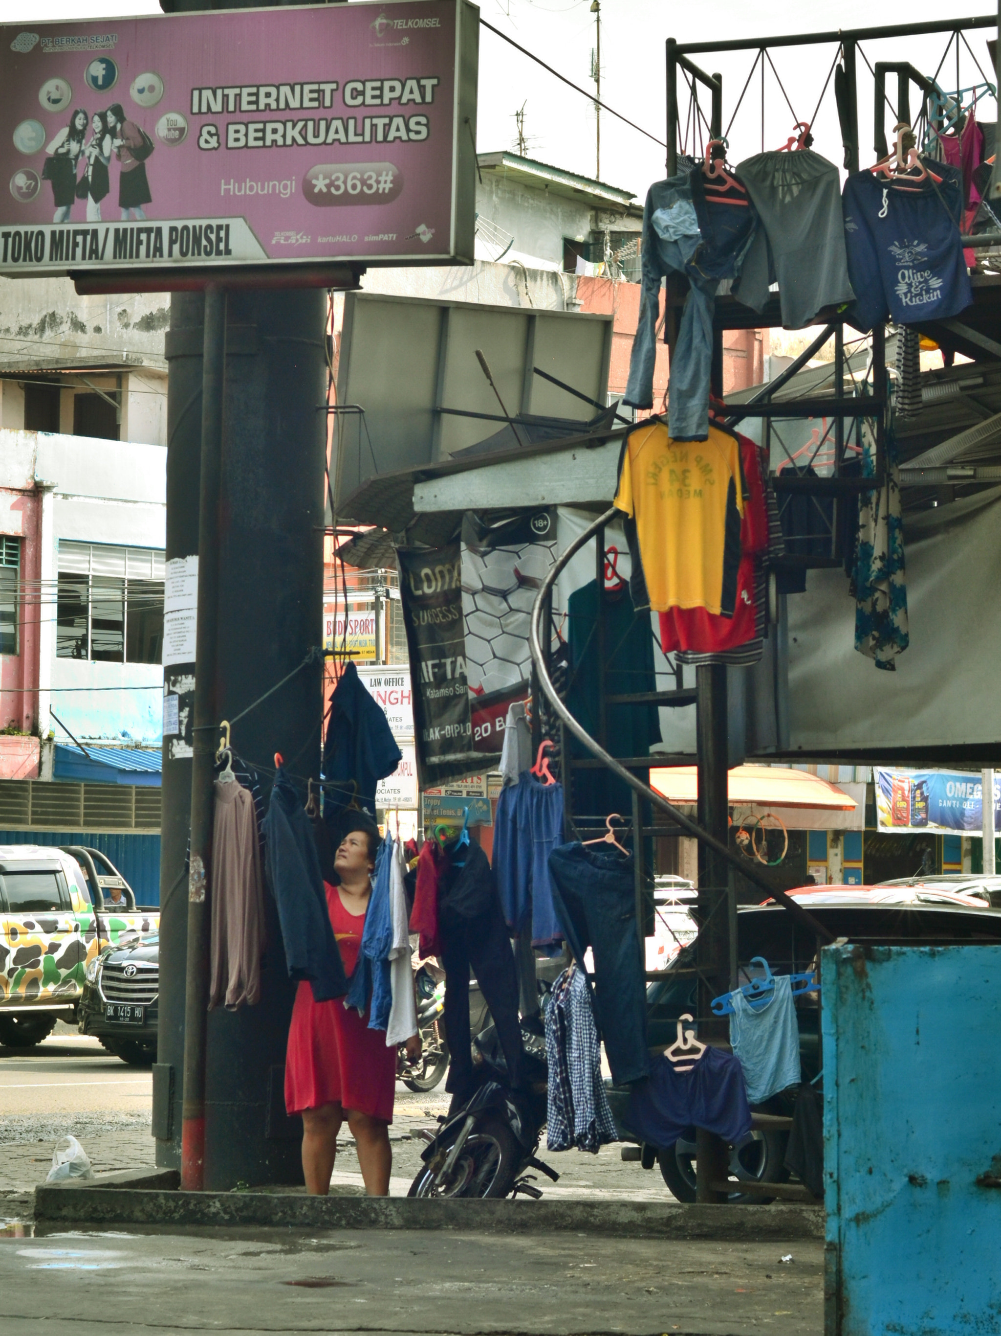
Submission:
[[[822,1333],[823,1249],[813,1238],[36,1226],[33,1185],[67,1133],[97,1172],[153,1162],[151,1098],[148,1071],[63,1027],[35,1050],[0,1049],[4,1336]],[[411,1132],[432,1128],[446,1108],[440,1088],[414,1094],[398,1085],[394,1196],[406,1194],[419,1164],[423,1142]],[[669,1201],[659,1172],[623,1162],[619,1149],[546,1156],[561,1173],[558,1185],[539,1181],[546,1198]],[[331,1192],[363,1192],[350,1137]]]

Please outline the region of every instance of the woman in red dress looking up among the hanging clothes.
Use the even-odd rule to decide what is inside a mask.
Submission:
[[[334,858],[339,886],[326,884],[327,908],[351,977],[358,963],[371,875],[379,848],[372,822],[358,823],[344,835]],[[412,1050],[412,1051],[411,1051]],[[416,1058],[420,1038],[407,1041]],[[303,1116],[303,1173],[306,1190],[326,1197],[338,1152],[338,1132],[347,1125],[358,1146],[358,1162],[370,1197],[390,1193],[390,1124],[396,1089],[396,1050],[384,1030],[368,1029],[368,1010],[359,1015],[343,998],[315,1002],[308,981],[299,983],[288,1029],[286,1108]]]

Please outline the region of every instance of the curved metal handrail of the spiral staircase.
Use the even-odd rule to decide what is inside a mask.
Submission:
[[[794,918],[797,918],[805,927],[809,927],[815,937],[821,938],[826,943],[833,942],[834,934],[829,929],[826,929],[821,922],[818,922],[813,916],[813,914],[809,914],[802,907],[802,904],[797,904],[797,902],[791,899],[789,895],[786,895],[785,891],[779,891],[775,890],[774,886],[769,886],[769,883],[765,880],[763,876],[759,876],[753,867],[747,866],[746,859],[741,859],[737,854],[731,852],[726,847],[726,844],[718,840],[714,835],[710,835],[707,830],[705,830],[702,826],[698,824],[698,822],[693,822],[691,818],[685,816],[685,814],[681,812],[673,803],[669,803],[662,794],[658,794],[655,790],[650,788],[649,784],[645,784],[642,779],[637,779],[635,775],[630,774],[630,771],[619,766],[615,758],[610,756],[609,752],[606,752],[605,748],[601,745],[601,743],[595,741],[595,739],[591,737],[591,735],[583,728],[583,725],[579,724],[577,719],[574,719],[574,716],[570,713],[565,703],[559,699],[559,693],[557,692],[557,688],[553,685],[553,679],[550,677],[549,669],[546,667],[546,657],[542,652],[542,636],[539,627],[542,623],[543,608],[546,607],[547,596],[553,589],[553,585],[557,582],[557,576],[559,574],[559,572],[563,570],[563,568],[569,564],[571,557],[574,557],[575,553],[578,553],[586,542],[594,538],[595,534],[598,534],[598,532],[605,528],[605,525],[611,524],[611,521],[617,517],[617,514],[618,512],[615,510],[614,506],[611,506],[609,510],[605,512],[605,514],[599,516],[594,521],[594,524],[589,525],[582,534],[574,538],[570,546],[565,552],[562,552],[559,557],[557,557],[554,564],[550,566],[549,574],[542,581],[542,587],[539,588],[539,592],[535,596],[535,603],[533,604],[531,609],[531,625],[529,628],[529,648],[531,651],[531,659],[535,665],[535,672],[538,673],[539,685],[549,696],[550,704],[555,709],[559,719],[563,720],[570,732],[579,741],[582,741],[583,745],[590,752],[593,752],[598,758],[598,760],[603,766],[606,766],[614,775],[617,775],[623,783],[629,784],[629,787],[634,790],[634,792],[639,794],[641,798],[645,798],[655,807],[659,807],[662,812],[667,812],[667,815],[671,816],[678,823],[678,826],[681,826],[685,831],[687,831],[689,835],[694,836],[707,848],[711,848],[713,852],[717,854],[719,858],[725,859],[730,864],[730,867],[735,868],[742,876],[746,876],[746,879],[751,882],[753,886],[757,886],[758,890],[765,891],[766,895],[771,896],[774,900],[777,900],[779,904],[787,908],[789,912]],[[651,758],[651,762],[655,763],[655,760],[657,760],[655,756]]]

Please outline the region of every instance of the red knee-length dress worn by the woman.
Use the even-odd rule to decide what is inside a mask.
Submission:
[[[348,914],[338,888],[326,890],[334,937],[350,977],[358,962],[364,914]],[[288,1027],[286,1109],[302,1113],[339,1104],[392,1122],[395,1093],[396,1050],[387,1046],[386,1031],[370,1030],[368,1011],[362,1017],[348,1010],[343,998],[315,1002],[308,979],[302,979]]]

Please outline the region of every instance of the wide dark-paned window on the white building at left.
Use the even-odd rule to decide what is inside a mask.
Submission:
[[[163,552],[59,544],[56,657],[163,663]]]

